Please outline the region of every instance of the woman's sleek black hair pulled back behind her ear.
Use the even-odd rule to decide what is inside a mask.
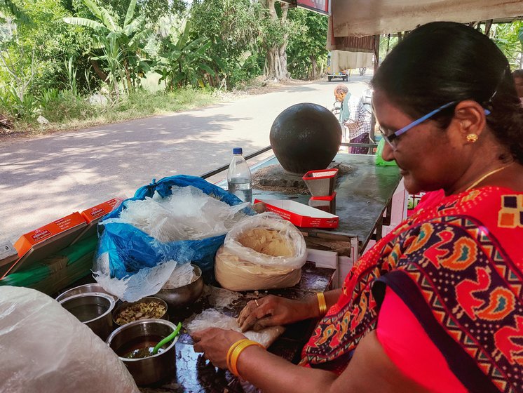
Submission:
[[[372,86],[413,119],[447,102],[479,102],[491,111],[496,139],[523,162],[523,109],[508,60],[472,27],[433,22],[414,29],[383,60]],[[453,114],[450,107],[434,119],[447,128]]]

